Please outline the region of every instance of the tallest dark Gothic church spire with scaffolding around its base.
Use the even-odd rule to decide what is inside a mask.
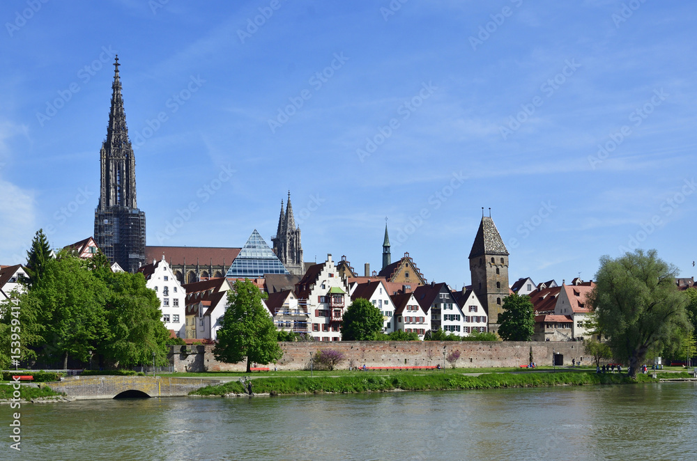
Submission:
[[[137,272],[145,262],[145,213],[136,203],[135,156],[128,139],[118,66],[116,56],[107,139],[100,151],[100,195],[94,212],[94,239],[109,261],[128,272]]]

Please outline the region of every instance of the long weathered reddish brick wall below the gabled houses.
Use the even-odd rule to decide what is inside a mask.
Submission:
[[[309,369],[310,356],[321,349],[340,350],[346,354],[346,361],[339,368],[351,366],[443,366],[443,347],[446,354],[452,350],[460,351],[458,368],[515,367],[528,363],[530,347],[537,365],[551,365],[552,352],[562,354],[563,364],[570,365],[572,359],[590,364],[591,358],[583,352],[583,343],[509,341],[340,341],[332,343],[281,343],[283,358],[277,364],[269,364],[279,370]],[[175,371],[244,371],[245,362],[224,364],[213,357],[212,345],[192,346],[181,353],[181,346],[171,346],[170,363]],[[449,364],[448,364],[449,366]]]

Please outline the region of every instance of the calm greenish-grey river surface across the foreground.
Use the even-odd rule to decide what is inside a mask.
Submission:
[[[16,410],[14,410],[16,411]],[[697,384],[23,405],[0,460],[695,460]]]

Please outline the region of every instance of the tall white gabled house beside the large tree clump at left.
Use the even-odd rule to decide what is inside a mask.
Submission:
[[[185,338],[186,291],[174,276],[164,256],[160,261],[153,260],[151,264],[140,267],[138,272],[145,276],[145,286],[155,290],[160,299],[164,326],[174,331],[177,338]]]

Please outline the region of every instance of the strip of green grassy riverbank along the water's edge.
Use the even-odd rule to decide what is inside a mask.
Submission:
[[[631,384],[635,382],[657,382],[649,376],[639,376],[636,381],[625,375],[597,375],[595,373],[492,373],[480,376],[453,374],[371,376],[362,375],[339,377],[268,377],[252,381],[254,393],[271,395],[298,393],[353,393],[372,391],[446,391],[458,389],[498,389],[507,387],[542,387],[584,384]],[[215,386],[206,386],[192,391],[195,396],[224,396],[227,393],[244,393],[238,381]]]

